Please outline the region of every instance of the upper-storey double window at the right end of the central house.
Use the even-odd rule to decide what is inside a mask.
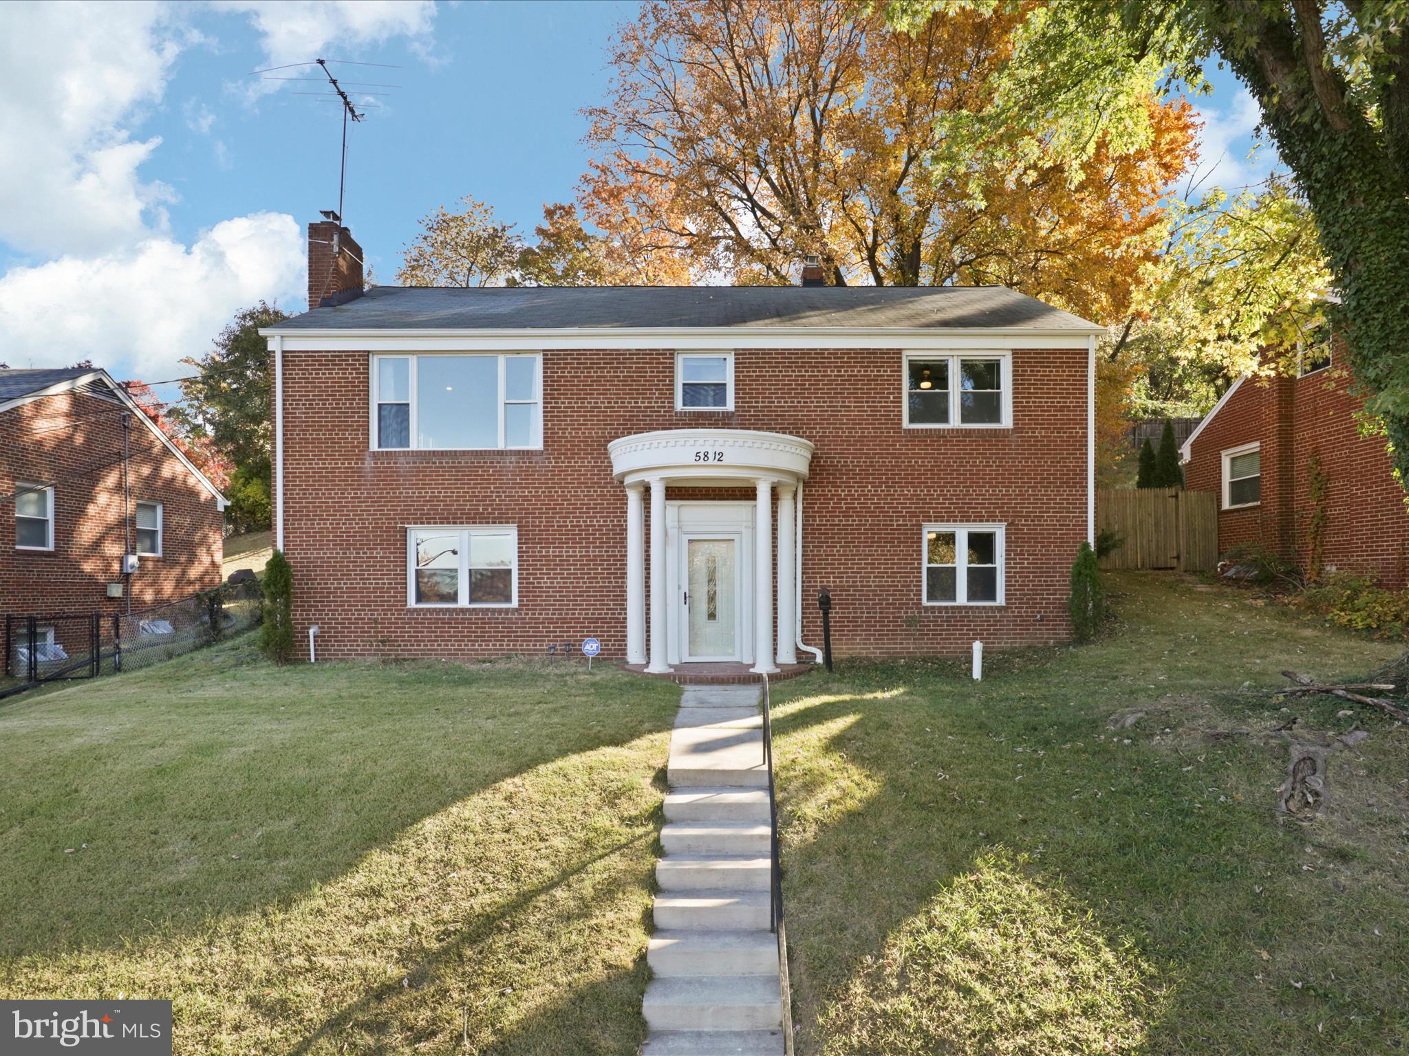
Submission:
[[[960,352],[905,355],[905,425],[916,429],[1012,425],[1012,359]]]

